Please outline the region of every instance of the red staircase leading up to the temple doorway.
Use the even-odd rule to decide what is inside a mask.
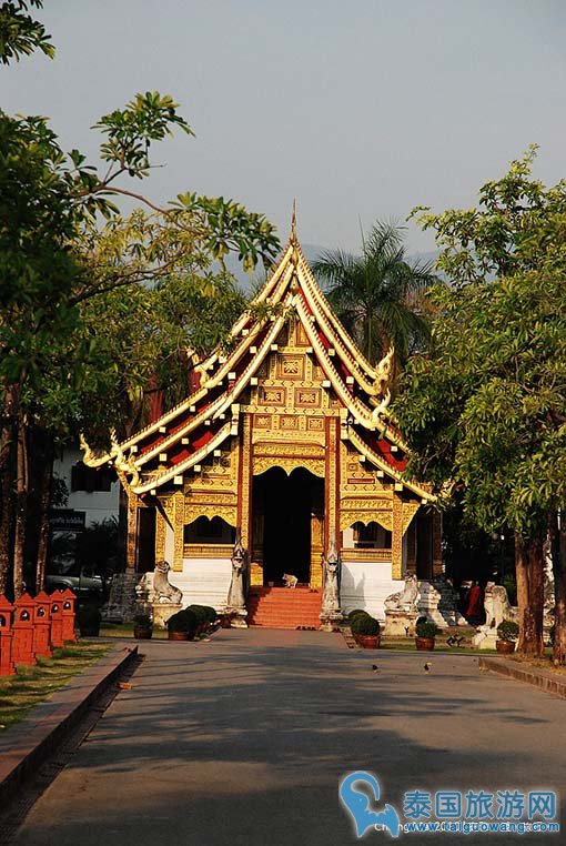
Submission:
[[[250,587],[247,624],[265,628],[320,628],[322,591],[304,587]]]

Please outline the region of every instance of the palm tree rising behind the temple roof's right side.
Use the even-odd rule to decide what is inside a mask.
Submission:
[[[422,294],[438,278],[432,263],[408,263],[405,228],[377,221],[362,238],[362,255],[327,251],[313,262],[336,315],[371,364],[395,345],[400,364],[429,339]]]

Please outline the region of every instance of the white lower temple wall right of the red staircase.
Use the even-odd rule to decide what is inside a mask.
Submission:
[[[384,561],[343,562],[340,588],[343,613],[362,608],[384,621],[386,597],[402,591],[405,584],[403,580],[392,578],[391,570],[392,563]]]

